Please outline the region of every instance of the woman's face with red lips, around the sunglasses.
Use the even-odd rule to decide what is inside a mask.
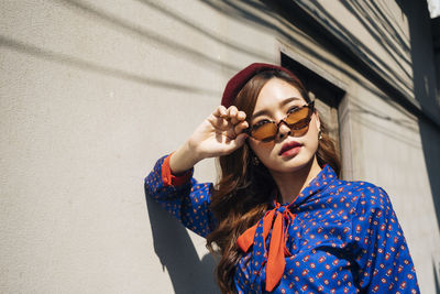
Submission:
[[[307,105],[296,87],[279,78],[270,79],[262,88],[251,117],[251,126],[262,120],[279,122],[289,110]],[[249,144],[260,161],[271,171],[292,173],[310,163],[318,149],[320,122],[311,116],[308,130],[300,137],[289,134],[290,129],[280,123],[275,140],[263,142],[249,138]]]

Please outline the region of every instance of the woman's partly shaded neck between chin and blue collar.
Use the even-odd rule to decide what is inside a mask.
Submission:
[[[271,172],[283,204],[293,203],[299,193],[319,174],[322,168],[319,166],[317,157],[314,156],[306,166],[293,173]]]

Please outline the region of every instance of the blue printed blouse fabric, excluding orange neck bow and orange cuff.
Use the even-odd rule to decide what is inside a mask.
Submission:
[[[182,186],[161,181],[163,159],[145,179],[146,194],[189,229],[207,236],[215,221],[209,213],[212,184],[194,178]],[[256,224],[250,249],[235,268],[238,293],[419,293],[405,237],[384,189],[366,182],[346,182],[326,165],[292,204],[285,220],[285,269],[266,291],[272,229],[263,236]],[[275,211],[276,213],[276,211]]]

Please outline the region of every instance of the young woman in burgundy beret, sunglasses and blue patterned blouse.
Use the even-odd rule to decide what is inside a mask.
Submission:
[[[385,190],[338,178],[339,160],[302,84],[252,64],[145,179],[146,194],[220,254],[223,293],[418,293]],[[219,157],[219,183],[193,166]]]

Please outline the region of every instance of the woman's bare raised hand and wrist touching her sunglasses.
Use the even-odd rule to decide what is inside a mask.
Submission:
[[[227,155],[244,144],[248,134],[243,132],[249,124],[246,113],[231,106],[219,106],[195,130],[187,142],[173,153],[169,167],[177,174],[191,168],[207,157]]]

